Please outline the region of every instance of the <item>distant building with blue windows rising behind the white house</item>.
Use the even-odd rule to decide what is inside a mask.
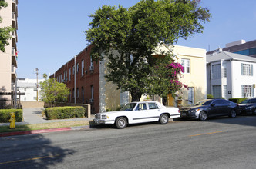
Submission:
[[[207,55],[212,55],[219,51],[228,51],[231,53],[247,55],[256,58],[256,40],[248,41],[240,40],[227,43],[224,48],[218,48],[214,51],[207,51]]]

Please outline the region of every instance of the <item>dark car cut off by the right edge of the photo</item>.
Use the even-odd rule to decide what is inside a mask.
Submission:
[[[256,98],[248,98],[242,101],[239,105],[240,114],[256,115]]]

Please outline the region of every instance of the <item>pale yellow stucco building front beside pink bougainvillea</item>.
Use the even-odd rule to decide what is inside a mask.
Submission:
[[[180,45],[160,45],[154,55],[164,55],[166,52],[173,52],[173,61],[184,67],[184,78],[180,78],[180,81],[188,86],[188,90],[183,88],[177,93],[177,97],[182,97],[182,105],[194,104],[207,98],[206,50]],[[177,106],[177,97],[173,98],[169,94],[167,105]]]

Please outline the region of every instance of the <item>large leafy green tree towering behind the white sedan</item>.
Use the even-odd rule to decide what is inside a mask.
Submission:
[[[170,64],[171,53],[164,53],[169,60],[153,57],[153,53],[160,44],[173,45],[179,38],[187,39],[203,31],[202,24],[211,15],[199,3],[199,0],[143,0],[130,8],[103,5],[96,10],[90,15],[93,19],[86,30],[86,40],[93,44],[94,61],[108,60],[106,80],[130,91],[133,101],[139,100],[141,94],[159,91],[154,86],[167,85],[163,77],[154,78],[151,83],[150,75],[156,65]]]

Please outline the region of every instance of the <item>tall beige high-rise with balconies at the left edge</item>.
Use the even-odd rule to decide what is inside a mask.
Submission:
[[[8,2],[6,8],[0,10],[2,23],[0,28],[12,26],[15,31],[9,45],[5,46],[5,52],[0,51],[0,107],[4,104],[11,104],[14,100],[15,79],[17,68],[17,30],[18,30],[18,0],[5,0]]]

